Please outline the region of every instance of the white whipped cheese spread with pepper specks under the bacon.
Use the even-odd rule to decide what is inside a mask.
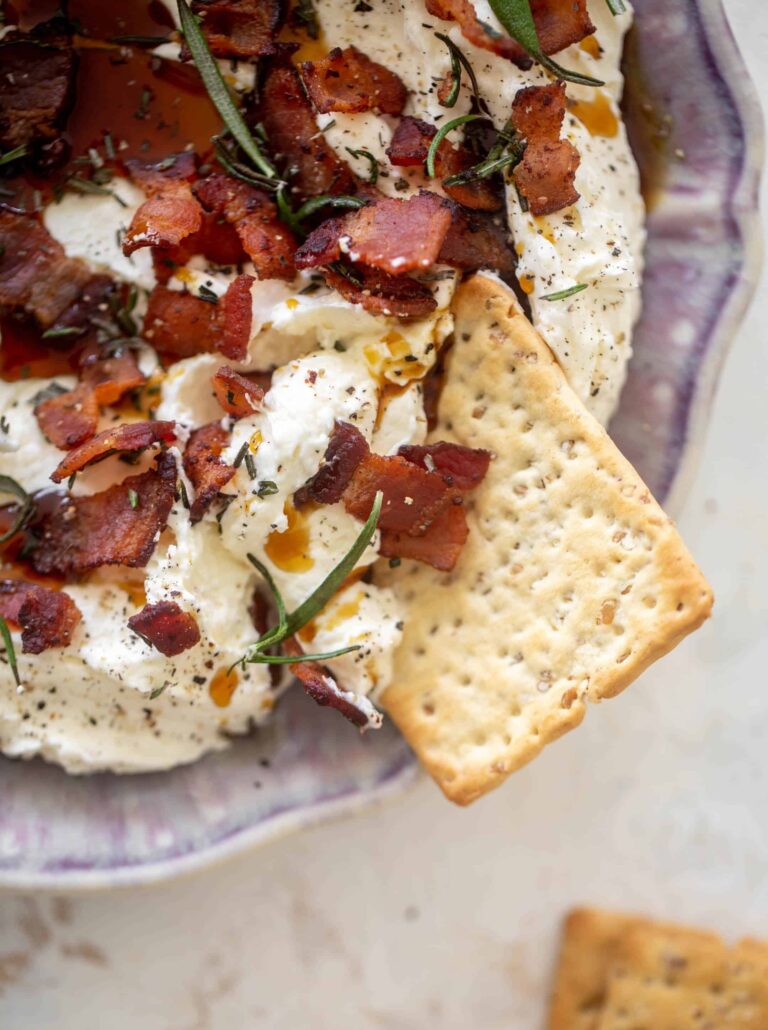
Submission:
[[[169,6],[175,9],[175,4]],[[476,6],[483,21],[494,24],[484,0]],[[497,125],[505,122],[518,89],[546,80],[536,68],[521,71],[476,49],[455,25],[430,18],[415,0],[377,0],[357,7],[324,0],[317,13],[328,46],[359,45],[403,79],[410,94],[406,113],[438,124],[446,109],[438,103],[437,83],[450,61],[435,31],[455,39],[472,62]],[[508,212],[518,274],[535,324],[577,392],[605,421],[622,387],[639,306],[643,208],[618,107],[622,41],[631,15],[614,19],[603,3],[591,4],[590,14],[599,47],[573,46],[559,57],[568,67],[605,80],[597,94],[567,85],[571,105],[564,133],[581,154],[575,185],[582,199],[566,211],[535,218],[521,210],[511,187]],[[156,56],[175,60],[177,52],[173,44]],[[231,84],[249,88],[249,66],[225,65]],[[451,117],[468,109],[463,87]],[[395,119],[366,112],[318,115],[317,122],[361,178],[368,177],[369,161],[350,149],[379,159],[378,185],[385,194],[403,197],[425,184],[418,169],[387,169],[384,151]],[[433,181],[429,187],[439,188]],[[66,194],[44,210],[43,222],[70,256],[138,286],[140,316],[154,284],[150,251],[127,258],[119,241],[143,195],[120,178],[113,179],[110,190],[97,196]],[[220,297],[238,271],[211,268],[194,258],[168,285],[198,295],[203,287]],[[434,273],[437,310],[409,322],[375,317],[318,286],[317,277],[306,273],[293,283],[255,281],[248,356],[236,368],[276,371],[261,409],[233,424],[211,389],[213,373],[232,362],[200,354],[163,372],[149,348],[141,353],[142,371],[151,377],[151,407],[158,418],[177,423],[179,448],[195,427],[221,420],[233,431],[223,458],[234,461],[245,444],[255,477],[241,462],[224,488],[229,506],[218,519],[214,510],[193,525],[179,502],[146,570],[103,569],[68,586],[82,613],[68,648],[24,655],[20,634],[13,634],[24,689],[15,689],[9,666],[0,663],[0,747],[6,754],[42,755],[72,772],[150,771],[225,748],[233,734],[268,717],[278,691],[267,667],[229,672],[256,639],[248,608],[260,577],[248,555],[268,566],[288,609],[296,607],[360,531],[360,523],[342,504],[299,512],[291,504],[293,492],[317,471],[335,421],[354,424],[381,454],[423,443],[420,379],[451,333],[448,309],[456,285],[452,270]],[[543,299],[578,283],[588,288],[563,302]],[[33,413],[36,396],[51,381],[0,381],[0,473],[30,492],[50,488],[50,472],[62,456],[44,439]],[[70,388],[74,380],[58,377],[56,382]],[[105,412],[103,425],[115,417]],[[131,416],[121,411],[119,417]],[[147,454],[138,466],[127,466],[108,458],[80,473],[73,492],[102,490],[148,468],[151,459]],[[378,536],[353,576],[300,634],[303,646],[316,652],[358,647],[336,659],[330,670],[340,689],[362,697],[363,705],[365,695],[375,700],[390,683],[392,654],[403,631],[394,593],[361,579],[377,548]],[[128,628],[128,619],[145,603],[168,599],[194,614],[201,631],[200,644],[173,658]],[[373,709],[371,722],[376,722]]]

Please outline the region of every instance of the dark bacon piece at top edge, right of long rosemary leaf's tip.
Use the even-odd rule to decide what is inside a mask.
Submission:
[[[200,27],[217,58],[260,58],[279,54],[275,42],[283,24],[282,0],[193,0]],[[184,55],[186,57],[186,55]]]

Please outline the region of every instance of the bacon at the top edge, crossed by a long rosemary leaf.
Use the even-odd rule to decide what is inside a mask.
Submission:
[[[505,33],[499,34],[482,22],[472,0],[426,0],[426,9],[434,18],[457,22],[461,35],[475,46],[508,58],[521,68],[530,67],[525,50]],[[531,13],[545,54],[557,54],[595,31],[587,0],[531,0]]]

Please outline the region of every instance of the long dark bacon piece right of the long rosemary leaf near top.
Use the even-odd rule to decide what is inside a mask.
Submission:
[[[354,193],[355,178],[317,131],[315,112],[294,68],[270,69],[261,87],[259,114],[275,161],[300,199]]]

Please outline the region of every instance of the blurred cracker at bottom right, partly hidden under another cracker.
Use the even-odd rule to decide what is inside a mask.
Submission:
[[[595,1030],[617,947],[636,922],[636,916],[597,908],[568,913],[563,923],[548,1030]]]

